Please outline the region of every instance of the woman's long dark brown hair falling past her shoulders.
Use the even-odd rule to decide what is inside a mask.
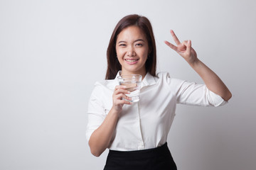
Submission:
[[[121,64],[119,64],[117,60],[117,35],[119,35],[124,28],[129,26],[137,26],[145,33],[146,40],[149,44],[149,57],[145,63],[146,72],[149,72],[152,76],[156,76],[156,42],[151,23],[148,18],[134,14],[124,16],[124,18],[122,18],[114,28],[110,38],[110,43],[107,47],[107,73],[105,79],[114,79],[117,72],[122,69]]]

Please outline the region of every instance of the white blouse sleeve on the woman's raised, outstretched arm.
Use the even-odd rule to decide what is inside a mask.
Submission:
[[[166,75],[171,91],[176,95],[177,103],[196,106],[223,106],[224,101],[218,94],[210,91],[205,84],[171,79]]]

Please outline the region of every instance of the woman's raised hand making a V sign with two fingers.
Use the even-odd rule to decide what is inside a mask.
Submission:
[[[174,38],[174,42],[176,45],[171,44],[171,42],[164,41],[166,45],[171,47],[171,49],[178,52],[181,57],[183,57],[188,64],[193,64],[193,62],[196,62],[197,55],[196,51],[193,50],[193,47],[191,47],[191,40],[184,40],[183,42],[180,42],[178,38],[176,37],[174,30],[171,30],[171,36]]]

